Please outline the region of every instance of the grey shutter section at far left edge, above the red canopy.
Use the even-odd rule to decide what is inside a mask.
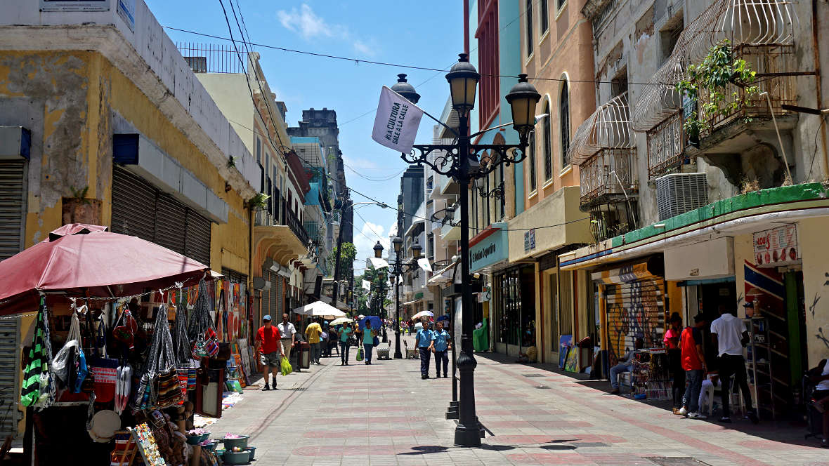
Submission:
[[[0,261],[23,249],[26,162],[0,162]]]

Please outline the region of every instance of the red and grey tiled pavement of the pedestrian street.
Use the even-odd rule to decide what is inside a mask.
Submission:
[[[476,398],[478,416],[494,435],[480,449],[458,448],[454,423],[444,419],[451,379],[420,380],[419,361],[366,366],[353,355],[347,367],[335,356],[279,377],[278,392],[245,390],[245,399],[211,425],[213,435],[249,434],[255,466],[699,464],[689,458],[710,465],[829,466],[829,451],[787,423],[737,420],[723,427],[686,420],[608,395],[591,382],[487,355],[478,356]],[[526,377],[532,374],[542,377]]]

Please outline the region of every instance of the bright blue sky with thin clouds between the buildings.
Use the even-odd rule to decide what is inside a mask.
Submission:
[[[162,26],[229,36],[220,0],[145,1]],[[230,15],[230,0],[223,1]],[[250,41],[254,43],[444,70],[463,51],[463,2],[460,0],[238,1]],[[239,31],[232,16],[230,24],[238,39]],[[167,35],[174,42],[230,44],[169,29]],[[448,97],[445,73],[356,64],[263,47],[254,47],[254,50],[261,55],[259,63],[270,88],[288,107],[288,126],[298,126],[303,109],[337,111],[340,150],[346,164],[346,182],[353,189],[352,201],[355,204],[371,202],[358,194],[361,193],[395,206],[400,174],[407,165],[400,154],[371,140],[381,88],[395,84],[397,74],[409,74],[409,82],[421,95],[419,106],[439,116]],[[432,142],[432,124],[429,118],[423,118],[416,142]],[[359,275],[378,240],[389,247],[389,228],[395,223],[396,212],[376,205],[358,204],[355,209],[354,243],[358,262],[354,267]]]

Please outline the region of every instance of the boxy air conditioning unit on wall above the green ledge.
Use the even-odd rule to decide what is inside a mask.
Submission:
[[[659,219],[670,219],[708,204],[705,173],[673,173],[657,178]]]

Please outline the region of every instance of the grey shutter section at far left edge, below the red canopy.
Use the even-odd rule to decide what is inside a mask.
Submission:
[[[17,435],[20,319],[0,320],[0,435]]]

